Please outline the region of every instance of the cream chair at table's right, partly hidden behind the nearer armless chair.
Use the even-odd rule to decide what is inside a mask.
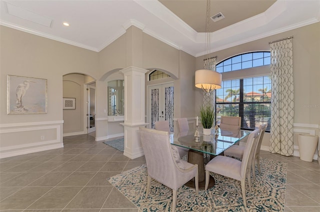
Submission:
[[[253,156],[251,160],[251,167],[252,167],[252,176],[254,180],[255,180],[255,161],[258,167],[258,171],[260,172],[260,148],[261,148],[261,142],[263,139],[265,129],[266,129],[265,123],[259,126],[259,138],[257,142],[254,144],[254,147],[252,148]],[[244,149],[245,149],[244,145],[232,145],[229,148],[225,149],[223,151],[223,154],[224,156],[242,158]]]

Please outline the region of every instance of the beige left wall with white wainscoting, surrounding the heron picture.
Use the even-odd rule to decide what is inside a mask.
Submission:
[[[62,76],[96,78],[98,53],[2,25],[0,44],[0,157],[61,147]],[[6,114],[8,74],[47,79],[47,113]]]

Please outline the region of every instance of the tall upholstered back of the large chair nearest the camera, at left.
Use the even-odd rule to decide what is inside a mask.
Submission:
[[[168,131],[139,127],[147,173],[158,182],[173,188],[177,186],[178,167],[173,160]]]

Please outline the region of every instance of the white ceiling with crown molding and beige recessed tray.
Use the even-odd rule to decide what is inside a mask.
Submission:
[[[320,21],[320,0],[274,1],[211,0],[211,15],[225,16],[210,22],[211,51]],[[199,56],[206,53],[205,5],[205,0],[0,0],[0,24],[93,51],[134,25]]]

